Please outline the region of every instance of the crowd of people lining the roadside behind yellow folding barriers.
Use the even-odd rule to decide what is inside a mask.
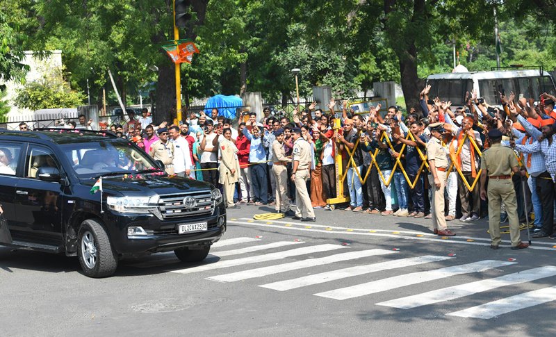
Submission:
[[[534,218],[532,236],[556,238],[556,98],[500,93],[502,108],[496,108],[468,92],[464,106],[452,107],[450,101],[430,99],[429,91],[427,86],[420,92],[420,106],[407,114],[396,106],[384,115],[381,106],[355,113],[347,101],[331,99],[326,110],[313,103],[291,117],[265,108],[260,118],[242,113],[232,121],[215,108],[210,114],[187,113],[177,124],[155,125],[144,109],[138,119],[129,113],[127,122],[100,122],[100,128],[136,142],[162,161],[168,174],[221,186],[232,208],[272,205],[304,221],[315,220],[313,208],[336,207],[425,217],[443,236],[455,235],[446,222],[489,216],[491,227],[509,220],[514,247],[525,245],[516,226]],[[91,121],[80,116],[72,127],[90,129]],[[510,147],[516,150],[510,150],[514,161],[507,155]],[[501,151],[498,156],[507,161],[486,161],[489,151]],[[494,180],[511,190],[491,193],[500,192],[491,187]],[[329,202],[343,197],[349,204]],[[498,239],[493,238],[493,249]]]

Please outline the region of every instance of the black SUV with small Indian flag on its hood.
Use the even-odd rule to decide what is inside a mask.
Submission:
[[[202,261],[226,231],[220,190],[163,167],[111,133],[0,130],[0,245],[79,256],[90,277],[122,256]]]

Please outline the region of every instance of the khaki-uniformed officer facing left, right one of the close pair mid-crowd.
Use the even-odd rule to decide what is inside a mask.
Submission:
[[[306,181],[311,169],[311,145],[303,139],[300,128],[292,130],[293,166],[291,180],[295,182],[295,216],[294,220],[315,221],[315,212],[311,205],[311,198],[307,192]],[[303,217],[303,215],[306,215]]]

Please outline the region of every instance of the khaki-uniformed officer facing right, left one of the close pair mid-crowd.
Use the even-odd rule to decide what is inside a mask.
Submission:
[[[272,174],[276,181],[276,213],[285,213],[290,210],[288,202],[288,170],[286,165],[291,159],[286,157],[284,150],[284,129],[274,131],[276,137],[272,142]]]

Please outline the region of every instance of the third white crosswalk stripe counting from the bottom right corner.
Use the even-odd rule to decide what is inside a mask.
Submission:
[[[459,274],[482,272],[491,268],[501,267],[503,265],[512,265],[514,263],[515,262],[484,260],[474,263],[467,263],[465,265],[455,265],[452,267],[428,270],[426,272],[412,272],[410,274],[403,274],[395,277],[388,277],[386,279],[380,279],[377,281],[361,283],[357,284],[356,286],[325,291],[324,293],[318,293],[315,295],[339,300],[350,299],[374,293],[381,293],[382,291],[386,290],[411,286],[417,283],[434,281],[437,279],[443,279],[445,277],[452,277]]]

